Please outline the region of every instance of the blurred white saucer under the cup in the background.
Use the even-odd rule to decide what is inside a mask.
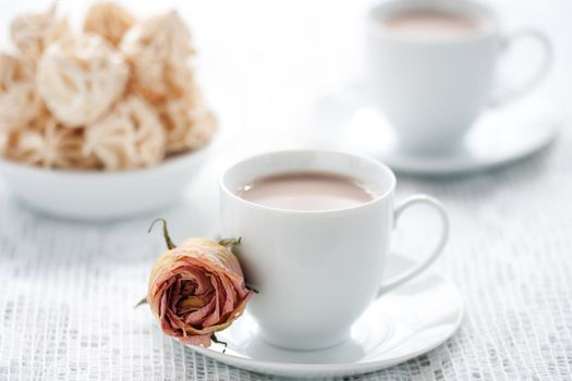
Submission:
[[[322,148],[378,158],[397,171],[471,172],[522,159],[546,147],[561,120],[543,91],[486,112],[454,151],[418,156],[399,147],[393,127],[375,106],[372,91],[355,83],[322,98],[312,115],[311,139]],[[415,110],[412,110],[415,112]]]

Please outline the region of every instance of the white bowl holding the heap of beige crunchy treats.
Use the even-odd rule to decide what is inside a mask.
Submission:
[[[11,193],[37,211],[76,220],[118,219],[173,204],[210,146],[145,169],[120,172],[63,171],[0,160]]]

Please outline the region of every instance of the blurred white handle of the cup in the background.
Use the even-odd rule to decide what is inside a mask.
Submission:
[[[555,58],[552,44],[545,34],[535,29],[522,29],[503,37],[501,41],[502,53],[506,53],[518,40],[523,39],[533,39],[540,45],[540,48],[544,50],[543,62],[536,72],[519,86],[512,89],[502,90],[502,93],[497,91],[490,99],[489,107],[496,108],[503,106],[528,93],[540,84],[548,73],[548,70],[552,66]]]

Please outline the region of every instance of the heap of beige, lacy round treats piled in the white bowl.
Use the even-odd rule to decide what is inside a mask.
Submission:
[[[83,30],[54,8],[14,19],[0,53],[0,155],[59,169],[124,170],[206,145],[215,119],[177,12],[137,21],[97,2]]]

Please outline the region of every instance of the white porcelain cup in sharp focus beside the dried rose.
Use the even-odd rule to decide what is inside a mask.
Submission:
[[[353,208],[324,211],[276,209],[235,194],[258,177],[300,171],[351,176],[384,193]],[[263,153],[229,168],[220,188],[221,234],[242,237],[236,253],[246,281],[259,291],[247,309],[261,337],[280,347],[317,349],[345,341],[367,306],[425,270],[448,237],[447,214],[436,199],[413,196],[395,208],[393,172],[365,157],[319,150]],[[417,204],[439,214],[438,243],[417,266],[382,282],[394,220]]]

